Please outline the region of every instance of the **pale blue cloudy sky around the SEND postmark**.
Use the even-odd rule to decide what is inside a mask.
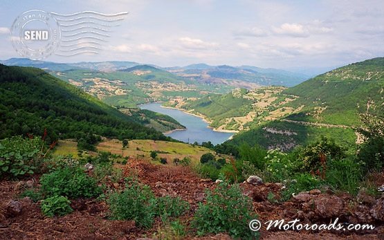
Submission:
[[[383,0],[2,0],[0,59],[21,57],[12,48],[10,26],[28,10],[129,12],[98,55],[44,59],[53,62],[294,69],[384,56]]]

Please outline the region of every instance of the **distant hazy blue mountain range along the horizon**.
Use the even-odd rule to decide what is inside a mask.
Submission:
[[[91,69],[102,72],[122,71],[134,66],[140,66],[137,62],[77,62],[77,63],[55,63],[30,60],[26,58],[11,58],[0,62],[8,66],[34,66],[37,68],[47,68],[51,71],[68,71],[70,69]],[[203,83],[225,83],[231,84],[235,82],[234,86],[239,85],[249,89],[257,85],[260,86],[295,86],[310,76],[302,73],[294,73],[291,71],[284,71],[275,68],[258,68],[255,66],[210,66],[208,64],[191,64],[188,66],[174,66],[174,67],[159,67],[154,65],[144,64],[145,66],[152,66],[164,71],[169,71],[174,75],[184,77],[186,79],[203,82]],[[134,69],[133,69],[134,70]],[[127,71],[127,70],[125,70]],[[244,84],[245,82],[245,84]],[[247,84],[249,83],[249,84]],[[255,85],[257,84],[257,85]]]

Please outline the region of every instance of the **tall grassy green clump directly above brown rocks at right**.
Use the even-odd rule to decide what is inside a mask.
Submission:
[[[337,190],[356,195],[362,177],[360,164],[347,158],[329,161],[325,180]]]

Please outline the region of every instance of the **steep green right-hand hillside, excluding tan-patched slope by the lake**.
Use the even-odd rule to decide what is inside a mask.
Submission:
[[[359,113],[384,115],[384,57],[336,68],[285,89],[275,98],[291,100],[272,104],[269,113],[279,109],[293,112],[267,122],[254,118],[249,123],[252,128],[237,134],[232,143],[291,149],[328,136],[353,147],[353,127],[360,125]]]

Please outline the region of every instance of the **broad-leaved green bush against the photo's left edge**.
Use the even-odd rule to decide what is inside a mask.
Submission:
[[[39,172],[45,155],[43,151],[42,138],[14,136],[0,140],[0,178]]]

